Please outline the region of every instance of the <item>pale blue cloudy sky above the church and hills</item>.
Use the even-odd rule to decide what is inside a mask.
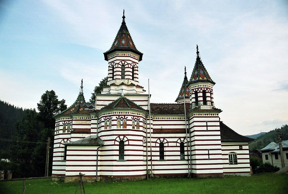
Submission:
[[[37,108],[54,90],[71,106],[83,79],[89,101],[123,9],[151,103],[175,103],[198,44],[221,121],[241,135],[288,124],[288,1],[0,1],[0,99]]]

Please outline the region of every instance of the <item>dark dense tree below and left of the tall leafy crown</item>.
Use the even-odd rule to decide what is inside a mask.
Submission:
[[[46,139],[50,129],[38,120],[35,109],[27,109],[16,123],[15,142],[10,147],[13,177],[43,176],[46,161]]]

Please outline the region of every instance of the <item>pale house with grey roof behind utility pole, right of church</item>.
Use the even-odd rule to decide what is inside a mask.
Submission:
[[[285,166],[288,166],[288,140],[282,141],[283,156]],[[271,142],[266,147],[259,150],[262,153],[263,163],[270,163],[273,166],[282,168],[279,144]]]

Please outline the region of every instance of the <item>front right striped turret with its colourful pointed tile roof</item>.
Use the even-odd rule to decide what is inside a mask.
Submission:
[[[201,61],[198,45],[196,50],[196,62],[191,78],[187,84],[191,94],[190,106],[192,109],[195,107],[200,109],[211,109],[211,107],[214,107],[213,86],[215,82],[210,78]]]

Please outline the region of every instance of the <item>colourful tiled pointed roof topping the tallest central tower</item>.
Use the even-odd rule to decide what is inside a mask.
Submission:
[[[126,26],[126,23],[125,23],[125,16],[124,16],[124,10],[123,10],[123,20],[122,20],[122,24],[120,26],[120,29],[113,41],[113,44],[111,46],[111,48],[104,52],[104,57],[105,57],[105,60],[108,61],[107,59],[107,54],[110,54],[111,52],[114,52],[114,51],[121,51],[121,50],[128,50],[128,51],[132,51],[136,54],[139,54],[139,61],[142,60],[142,56],[143,56],[143,53],[141,53],[139,50],[137,50],[133,40],[132,40],[132,37],[128,31],[128,28]]]

